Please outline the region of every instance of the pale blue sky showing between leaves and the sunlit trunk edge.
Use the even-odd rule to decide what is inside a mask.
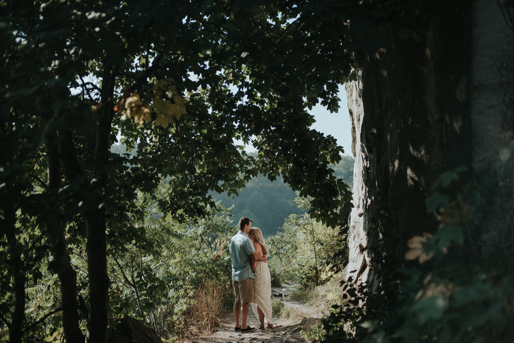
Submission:
[[[339,86],[339,112],[331,113],[326,107],[317,105],[312,110],[307,110],[314,116],[316,123],[311,128],[322,132],[325,136],[331,135],[337,140],[337,144],[344,148],[344,155],[352,156],[352,124],[350,122],[350,113],[348,113],[348,105],[346,100],[346,91],[344,85]],[[242,142],[238,142],[243,144]],[[253,146],[247,146],[246,151],[256,151]]]

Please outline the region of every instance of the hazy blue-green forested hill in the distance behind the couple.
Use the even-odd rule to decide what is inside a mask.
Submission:
[[[134,149],[132,154],[135,154]],[[125,146],[113,145],[113,153],[124,154]],[[343,179],[345,183],[351,184],[353,180],[354,158],[343,156],[341,162],[333,167],[334,175]],[[210,192],[216,201],[221,200],[226,207],[234,205],[232,214],[234,225],[239,218],[246,216],[253,219],[253,226],[261,228],[265,236],[272,236],[277,233],[280,226],[284,224],[284,218],[290,214],[301,214],[300,208],[295,203],[295,192],[284,183],[282,177],[276,181],[269,181],[265,176],[258,176],[247,183],[246,188],[239,192],[239,196],[228,198],[227,193]]]

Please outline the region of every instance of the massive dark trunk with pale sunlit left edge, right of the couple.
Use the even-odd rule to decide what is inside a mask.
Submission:
[[[356,130],[354,208],[346,276],[374,281],[373,256],[400,263],[407,240],[433,233],[426,211],[436,178],[471,170],[471,4],[427,2],[363,40],[359,80],[346,86]],[[391,260],[391,259],[390,259]]]

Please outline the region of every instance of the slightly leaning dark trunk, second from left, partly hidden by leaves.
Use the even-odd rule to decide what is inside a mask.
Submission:
[[[57,133],[52,132],[45,137],[46,156],[48,164],[48,190],[55,190],[61,185],[62,168],[59,142]],[[79,313],[77,311],[77,273],[69,262],[69,254],[64,235],[64,225],[62,218],[55,223],[57,226],[54,230],[59,233],[56,238],[50,234],[50,244],[52,248],[52,257],[56,261],[62,263],[61,268],[57,272],[61,289],[61,305],[62,322],[64,338],[69,343],[83,342],[84,334],[79,327]]]

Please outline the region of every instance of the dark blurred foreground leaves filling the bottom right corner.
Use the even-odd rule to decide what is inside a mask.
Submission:
[[[342,285],[346,301],[334,304],[322,319],[324,341],[514,339],[510,325],[514,319],[513,269],[506,259],[486,258],[475,251],[468,227],[474,208],[464,200],[473,201],[476,192],[471,186],[459,185],[458,174],[463,171],[445,173],[435,183],[427,207],[430,212],[437,210],[440,226],[433,236],[409,241],[406,259],[415,262],[407,261],[405,269],[395,267],[394,261],[378,265],[382,279],[373,292],[351,280]],[[440,195],[444,193],[450,196]],[[344,330],[344,323],[351,328]]]

